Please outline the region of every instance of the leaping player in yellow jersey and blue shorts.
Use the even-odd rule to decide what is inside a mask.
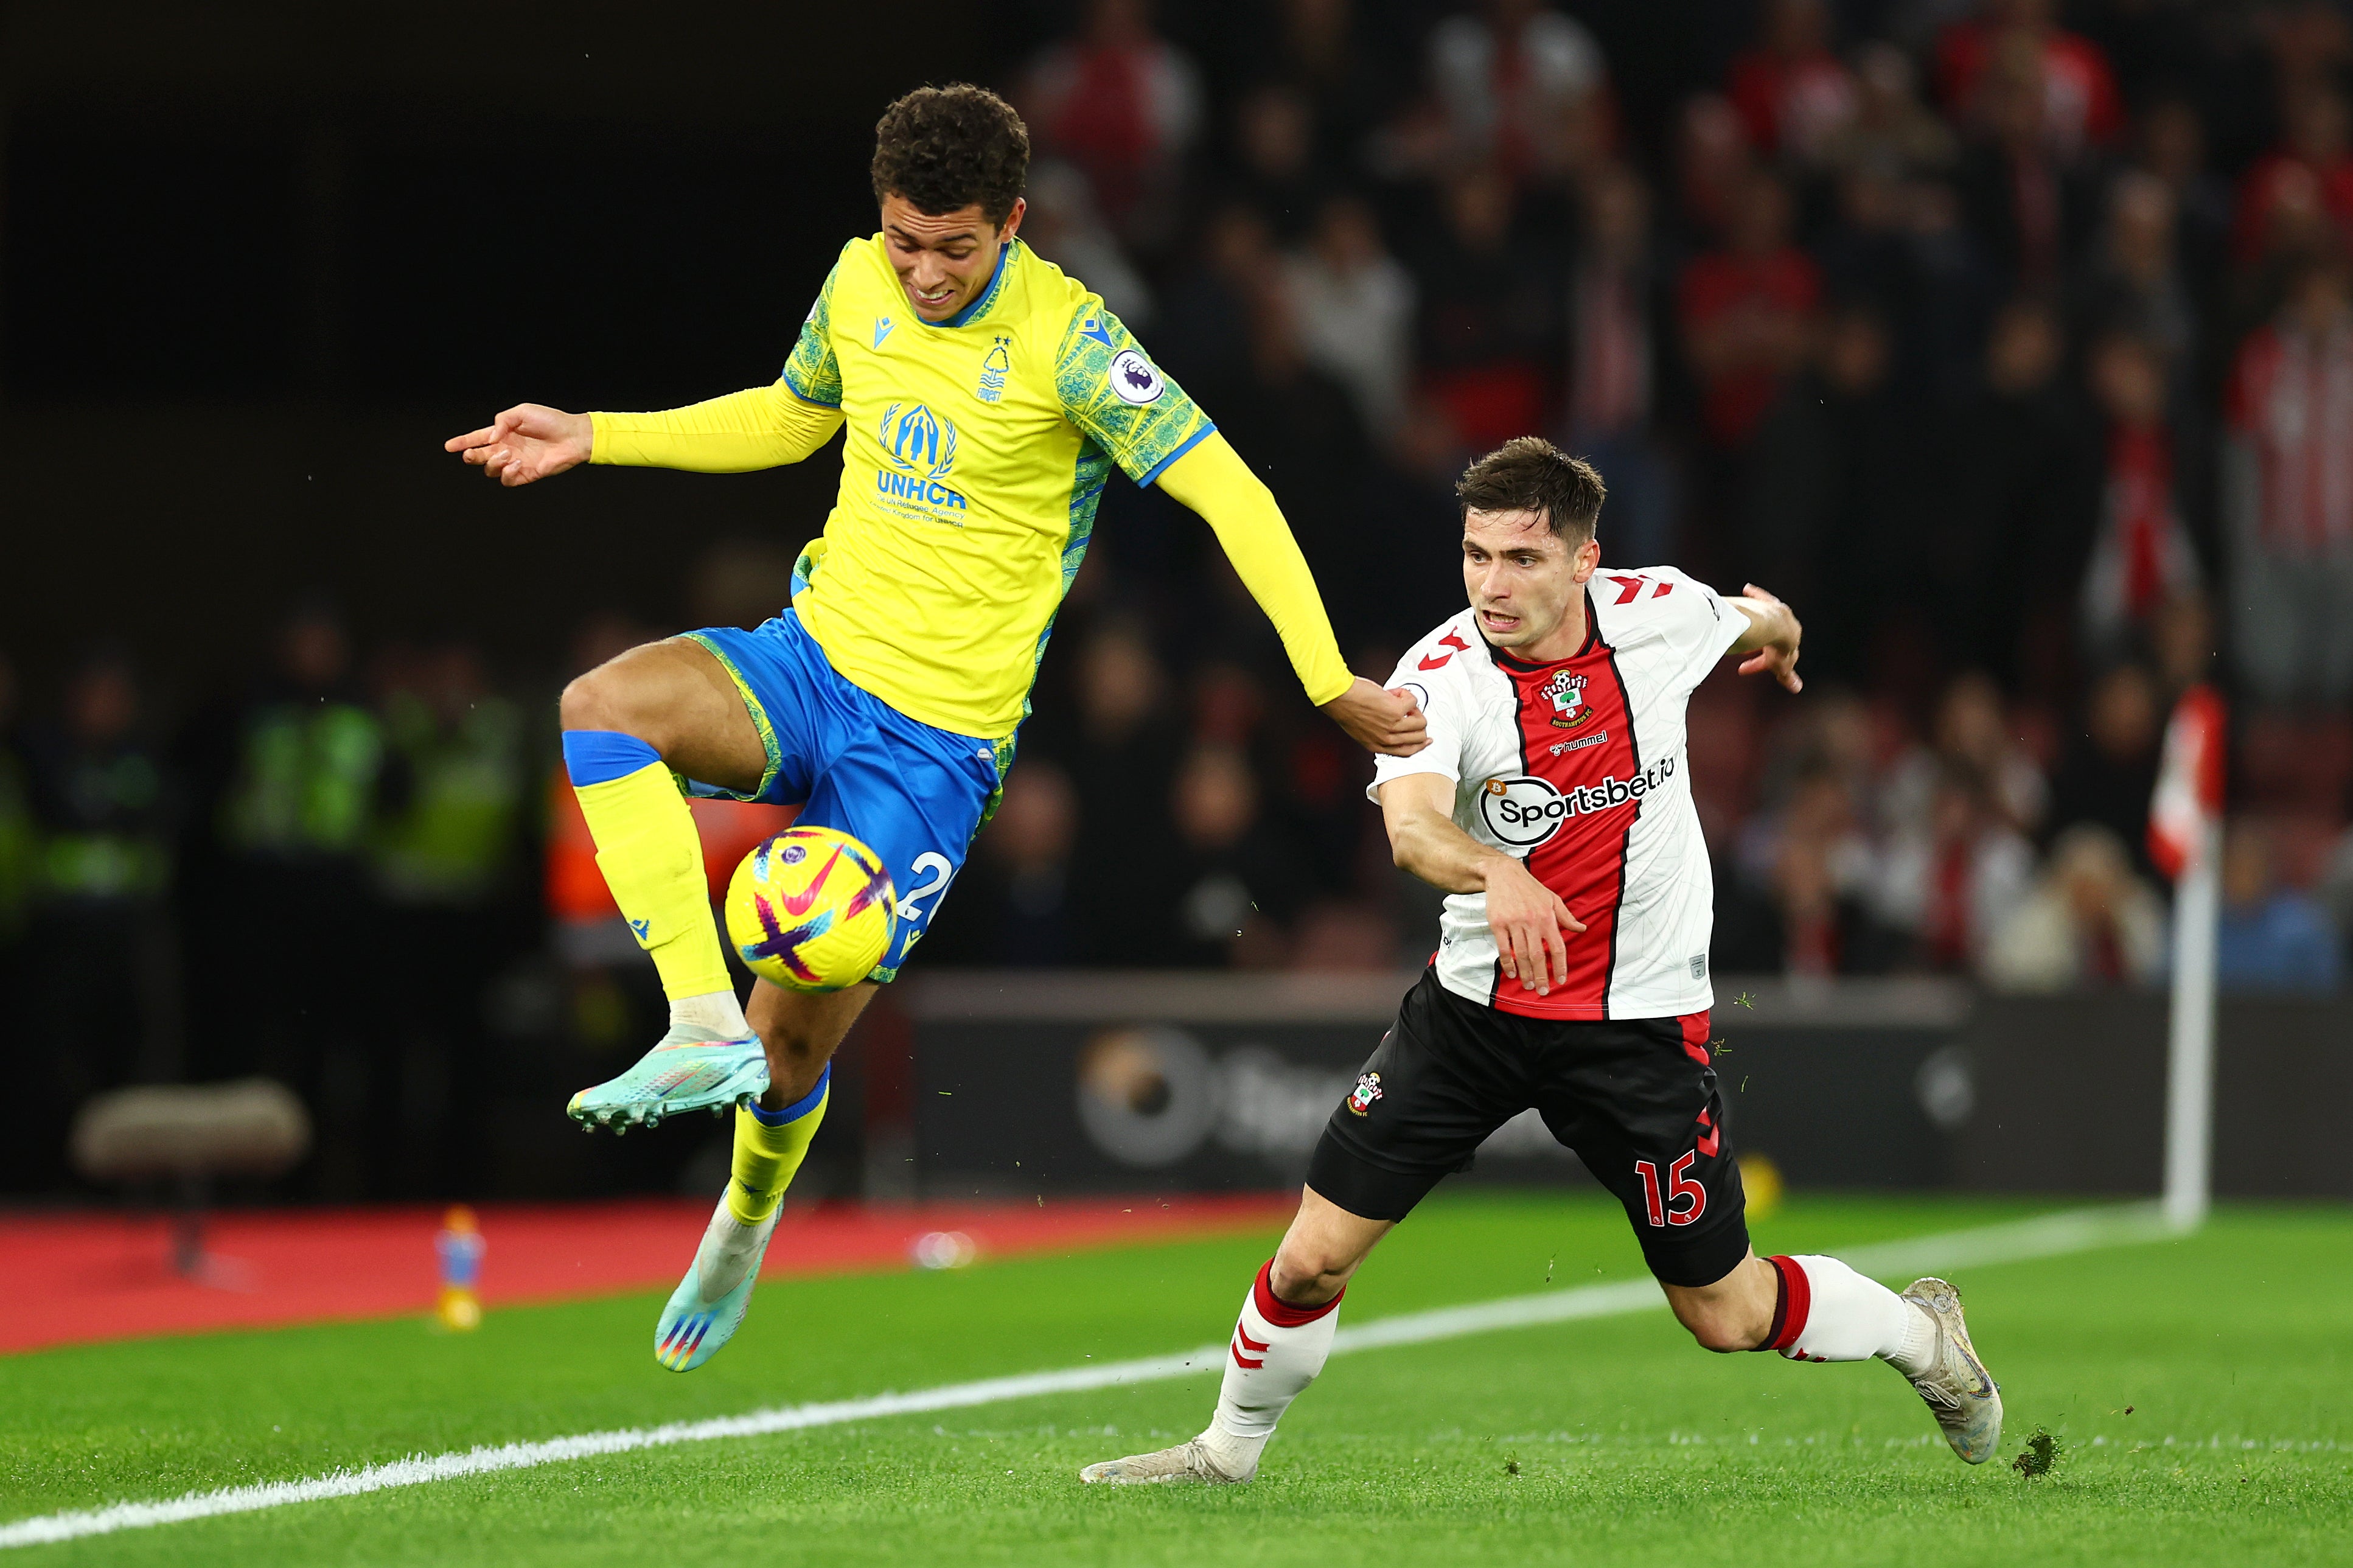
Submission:
[[[1028,132],[979,87],[922,87],[875,127],[882,233],[842,247],[774,386],[661,414],[522,403],[449,440],[501,485],[588,464],[739,473],[847,428],[842,485],[758,631],[633,647],[562,699],[598,866],[671,998],[642,1062],[572,1097],[621,1130],[736,1104],[734,1170],[654,1356],[708,1361],[744,1321],[776,1205],[826,1114],[833,1048],[896,977],[986,822],[1094,506],[1122,469],[1207,518],[1308,697],[1372,751],[1426,744],[1409,692],[1348,673],[1266,485],[1101,297],[1019,240]],[[802,805],[868,843],[899,935],[845,991],[753,984],[720,956],[685,789]]]

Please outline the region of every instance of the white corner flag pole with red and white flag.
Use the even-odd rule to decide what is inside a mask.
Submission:
[[[2214,1201],[2214,935],[2221,923],[2224,709],[2195,685],[2165,725],[2148,850],[2174,878],[2174,994],[2165,1052],[2165,1220],[2195,1229]]]

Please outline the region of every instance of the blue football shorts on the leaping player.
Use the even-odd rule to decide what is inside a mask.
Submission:
[[[711,626],[687,638],[727,666],[767,749],[760,789],[692,779],[687,789],[798,805],[798,822],[838,829],[880,855],[899,890],[899,932],[868,979],[896,979],[998,808],[1012,737],[988,742],[908,718],[845,680],[791,610],[753,631]]]

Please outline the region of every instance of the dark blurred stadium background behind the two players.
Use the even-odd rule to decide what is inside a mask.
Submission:
[[[833,461],[506,494],[440,440],[769,379],[873,226],[875,113],[951,78],[1024,106],[1026,235],[1261,466],[1358,669],[1459,603],[1447,480],[1522,428],[1600,461],[1609,560],[1800,607],[1807,697],[1727,673],[1692,725],[1755,1074],[1727,1059],[1793,1177],[2153,1187],[2141,826],[2169,697],[2217,678],[2219,1182],[2344,1191],[2282,1165],[2353,1052],[2353,713],[2315,652],[2353,558],[2337,7],[0,26],[0,1052],[42,1107],[12,1198],[94,1196],[64,1154],[92,1092],[245,1071],[318,1147],[231,1196],[718,1184],[701,1135],[560,1118],[659,998],[555,789],[553,695],[769,614]],[[2311,504],[2233,499],[2259,440]],[[1115,483],[929,989],[856,1036],[802,1196],[988,1189],[1019,1151],[960,1156],[960,1118],[1005,1128],[1024,1102],[979,1090],[1026,1083],[1071,1184],[1294,1177],[1282,1107],[1329,1102],[1426,951],[1367,772],[1207,530]],[[715,855],[760,826],[725,815]],[[1134,968],[1249,975],[1068,975]],[[1122,1111],[1193,1142],[1122,1161]]]

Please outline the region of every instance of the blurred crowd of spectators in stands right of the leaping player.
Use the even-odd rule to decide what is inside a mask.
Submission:
[[[2327,2],[1762,0],[1638,94],[1614,12],[1092,0],[1012,82],[1028,238],[1259,464],[1358,669],[1544,431],[1609,563],[1760,582],[1809,692],[1694,699],[1722,972],[2148,982],[2172,699],[2235,711],[2226,984],[2353,913],[2353,26]],[[1706,57],[1699,47],[1689,54]],[[967,873],[995,963],[1419,956],[1362,763],[1214,560],[1113,516]],[[1176,570],[1169,570],[1169,567]]]

